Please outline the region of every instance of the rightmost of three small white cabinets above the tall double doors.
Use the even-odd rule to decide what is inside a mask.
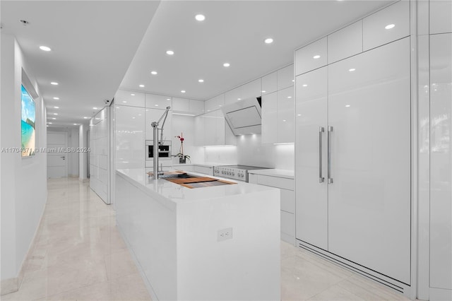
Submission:
[[[398,1],[363,20],[364,51],[410,35],[410,2]]]

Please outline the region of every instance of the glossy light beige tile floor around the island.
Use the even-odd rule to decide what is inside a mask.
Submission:
[[[112,206],[78,179],[49,179],[40,229],[16,293],[1,300],[150,300]],[[282,300],[408,300],[281,242]]]

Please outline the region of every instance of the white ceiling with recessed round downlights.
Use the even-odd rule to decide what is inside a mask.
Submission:
[[[48,116],[57,105],[53,122],[66,125],[93,116],[93,107],[103,107],[119,85],[207,100],[292,64],[297,47],[391,2],[1,1],[0,8],[2,33],[16,35]],[[196,21],[197,13],[206,20]],[[266,45],[266,37],[273,44]]]

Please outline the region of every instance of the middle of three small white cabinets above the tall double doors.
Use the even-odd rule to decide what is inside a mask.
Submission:
[[[362,52],[362,20],[328,35],[328,64]]]

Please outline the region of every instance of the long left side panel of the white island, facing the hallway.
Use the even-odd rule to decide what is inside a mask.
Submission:
[[[177,300],[176,211],[116,175],[117,225],[153,300]]]

